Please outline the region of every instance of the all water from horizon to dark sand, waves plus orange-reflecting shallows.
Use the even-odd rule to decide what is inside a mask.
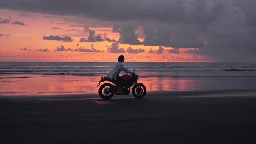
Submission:
[[[124,62],[150,91],[256,89],[256,63]],[[98,94],[115,62],[0,62],[0,96]],[[125,74],[125,73],[121,73]],[[131,94],[130,94],[131,95]]]

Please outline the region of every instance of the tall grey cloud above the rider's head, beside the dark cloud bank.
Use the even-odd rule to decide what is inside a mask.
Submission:
[[[132,24],[127,25],[114,25],[113,32],[118,32],[120,34],[119,41],[121,43],[130,45],[141,45],[142,42],[138,40],[138,35],[135,34],[137,27]]]

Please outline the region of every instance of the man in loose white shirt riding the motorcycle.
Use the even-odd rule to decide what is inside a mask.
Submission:
[[[121,71],[124,71],[125,73],[130,73],[132,74],[131,71],[129,71],[127,68],[124,67],[124,65],[122,64],[124,62],[125,58],[123,55],[120,55],[118,57],[118,62],[116,62],[114,68],[112,71],[110,71],[109,73],[107,73],[107,76],[109,76],[110,79],[115,79],[116,80],[116,86],[118,88],[118,92],[120,94],[123,94],[122,92],[122,87],[124,86],[122,81],[122,77],[119,76],[119,73]]]

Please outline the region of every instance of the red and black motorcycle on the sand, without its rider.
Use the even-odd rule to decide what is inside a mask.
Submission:
[[[128,67],[127,67],[128,68]],[[129,68],[128,68],[129,69]],[[99,95],[103,99],[110,99],[114,95],[129,95],[130,88],[132,87],[132,95],[135,98],[143,98],[146,95],[147,89],[143,83],[137,83],[138,75],[135,74],[135,68],[133,69],[133,73],[131,75],[125,74],[122,77],[124,79],[124,86],[121,88],[122,93],[118,92],[117,86],[115,84],[115,79],[110,79],[109,77],[100,77],[100,81],[98,81],[97,87],[100,85],[101,82],[109,81],[110,83],[103,83],[99,88]]]

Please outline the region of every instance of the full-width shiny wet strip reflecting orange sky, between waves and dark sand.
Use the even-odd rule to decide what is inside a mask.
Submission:
[[[249,81],[249,80],[251,81]],[[222,89],[255,89],[255,78],[140,78],[147,91],[205,91]],[[0,79],[0,96],[16,95],[57,95],[57,94],[98,94],[95,76],[16,76]],[[106,82],[104,82],[106,83]],[[243,85],[241,85],[243,83]],[[102,84],[102,83],[101,83]]]

